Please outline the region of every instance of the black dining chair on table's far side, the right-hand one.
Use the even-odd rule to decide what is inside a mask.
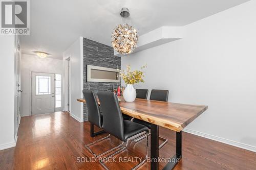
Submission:
[[[150,94],[150,100],[155,100],[155,101],[163,101],[163,102],[167,102],[168,101],[168,95],[169,95],[169,90],[151,90],[151,94]],[[147,128],[151,129],[151,123],[145,122],[143,120],[137,119],[137,118],[132,118],[131,119],[132,122],[136,122],[138,124],[144,125]],[[148,135],[151,135],[151,133],[148,133]],[[145,138],[145,136],[140,136],[136,139],[134,139],[135,142],[138,142],[140,140],[142,140],[143,138]],[[159,149],[161,149],[163,147],[163,145],[165,145],[168,142],[168,139],[160,137],[159,139],[162,139],[164,142],[159,145]]]

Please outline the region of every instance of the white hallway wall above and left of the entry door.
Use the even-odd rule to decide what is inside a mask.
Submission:
[[[31,115],[31,71],[62,74],[62,60],[22,54],[21,71],[21,89],[23,89],[21,115],[29,116]]]

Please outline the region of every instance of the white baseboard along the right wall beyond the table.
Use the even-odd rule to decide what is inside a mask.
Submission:
[[[209,135],[209,134],[206,134],[206,133],[202,133],[202,132],[198,132],[198,131],[191,130],[191,129],[186,129],[186,128],[183,129],[183,132],[191,133],[193,135],[197,135],[197,136],[201,136],[201,137],[204,137],[204,138],[207,138],[207,139],[211,139],[211,140],[215,140],[215,141],[222,142],[222,143],[225,143],[225,144],[229,144],[229,145],[232,145],[234,147],[238,147],[238,148],[242,148],[242,149],[245,149],[245,150],[248,150],[248,151],[256,152],[256,147],[253,147],[252,145],[248,145],[248,144],[245,144],[245,143],[240,143],[240,142],[237,142],[237,141],[225,139],[225,138],[214,136],[214,135]]]

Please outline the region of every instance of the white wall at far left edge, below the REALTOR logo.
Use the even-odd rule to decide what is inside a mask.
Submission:
[[[15,146],[15,72],[14,36],[0,38],[0,150]]]

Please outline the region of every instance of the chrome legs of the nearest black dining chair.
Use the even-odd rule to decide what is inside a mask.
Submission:
[[[145,132],[144,135],[146,136],[146,156],[145,156],[145,159],[143,159],[138,165],[136,165],[135,167],[133,167],[132,170],[137,169],[137,168],[140,167],[143,163],[145,163],[146,160],[147,160],[147,157],[148,157],[148,151],[147,151],[147,150],[148,150],[148,135],[147,135],[147,132]],[[135,137],[135,138],[136,138],[136,137]],[[130,140],[134,140],[134,137],[133,137],[132,139],[130,139]],[[129,143],[130,140],[127,140],[127,141],[126,141],[126,144],[125,144],[125,147],[124,147],[124,148],[118,150],[117,152],[113,153],[112,155],[110,155],[110,156],[108,156],[108,157],[103,158],[103,160],[104,160],[104,159],[108,160],[110,157],[113,157],[113,156],[119,154],[120,152],[124,151],[124,150],[127,148],[127,145],[128,145],[128,143]],[[104,169],[109,170],[109,168],[104,164],[103,160],[102,160],[102,159],[99,160],[100,164],[104,167]]]

